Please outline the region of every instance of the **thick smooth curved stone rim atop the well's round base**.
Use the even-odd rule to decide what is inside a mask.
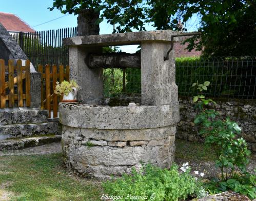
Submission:
[[[161,128],[179,122],[179,103],[160,106],[109,107],[61,103],[63,125],[97,129]]]

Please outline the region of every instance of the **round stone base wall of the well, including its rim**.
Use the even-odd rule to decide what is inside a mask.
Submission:
[[[84,176],[130,173],[141,162],[170,167],[179,103],[152,106],[60,104],[63,158]]]

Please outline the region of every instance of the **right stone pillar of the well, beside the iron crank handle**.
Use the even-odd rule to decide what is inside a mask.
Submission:
[[[169,60],[164,61],[170,43],[143,42],[141,47],[142,105],[178,103],[174,50]]]

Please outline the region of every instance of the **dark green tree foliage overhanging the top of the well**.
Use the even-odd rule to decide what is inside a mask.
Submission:
[[[54,0],[50,10],[54,8],[76,14],[81,9],[101,11],[97,23],[106,18],[116,25],[114,32],[143,31],[147,23],[157,30],[177,30],[179,19],[186,24],[196,14],[202,36],[188,39],[189,50],[203,49],[206,56],[256,54],[255,0]]]

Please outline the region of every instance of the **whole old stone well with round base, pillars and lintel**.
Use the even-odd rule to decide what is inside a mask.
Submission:
[[[84,176],[129,173],[141,162],[170,167],[179,122],[175,60],[164,56],[175,32],[149,31],[64,39],[69,46],[70,77],[81,86],[82,104],[61,103],[63,158]],[[103,97],[103,69],[91,69],[85,58],[103,46],[141,45],[142,96],[113,106]],[[128,106],[129,102],[139,106]],[[109,103],[109,102],[108,102]]]

